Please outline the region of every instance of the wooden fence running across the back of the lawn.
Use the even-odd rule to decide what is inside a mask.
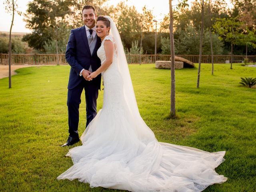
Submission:
[[[199,55],[176,55],[193,63],[198,63]],[[0,64],[8,64],[9,54],[0,54]],[[65,54],[59,54],[59,64],[67,64]],[[129,64],[147,64],[157,61],[170,61],[170,55],[126,55]],[[243,61],[244,55],[234,55],[234,62]],[[256,63],[256,56],[247,56],[248,62]],[[231,60],[230,55],[214,55],[214,63],[225,63],[226,60]],[[202,63],[211,63],[210,55],[202,55]],[[12,64],[57,64],[56,54],[12,54]]]

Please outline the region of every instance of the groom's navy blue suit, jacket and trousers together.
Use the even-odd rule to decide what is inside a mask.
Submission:
[[[100,47],[101,40],[97,38],[96,46],[91,55],[86,36],[85,26],[72,29],[68,40],[65,54],[66,61],[71,66],[68,80],[68,126],[69,136],[78,136],[79,122],[79,104],[81,103],[82,90],[85,90],[86,98],[86,127],[97,114],[97,98],[100,89],[101,75],[98,75],[92,81],[86,81],[79,73],[82,69],[88,70],[92,66],[92,71],[100,67],[100,58],[97,56],[97,50]]]

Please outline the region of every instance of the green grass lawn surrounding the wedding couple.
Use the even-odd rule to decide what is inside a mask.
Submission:
[[[197,67],[198,65],[196,65]],[[170,70],[153,64],[130,65],[140,114],[161,142],[226,151],[216,171],[228,177],[206,192],[256,191],[256,89],[242,87],[240,77],[256,77],[256,68],[234,64],[202,64],[176,70],[176,113],[170,112]],[[77,180],[56,180],[72,166],[60,147],[68,137],[66,106],[69,66],[17,70],[0,80],[0,191],[121,192],[90,188]],[[102,108],[103,91],[98,97]],[[85,98],[80,106],[80,135],[85,130]],[[79,142],[75,146],[81,145]],[[73,147],[73,146],[72,146]],[[71,148],[71,147],[70,147]]]

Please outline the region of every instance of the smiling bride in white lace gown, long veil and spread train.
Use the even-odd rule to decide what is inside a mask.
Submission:
[[[227,180],[215,168],[224,151],[158,142],[140,117],[122,41],[109,16],[99,16],[96,32],[101,67],[88,76],[102,74],[102,109],[81,136],[82,146],[69,150],[74,165],[60,179],[90,183],[132,192],[200,192]]]

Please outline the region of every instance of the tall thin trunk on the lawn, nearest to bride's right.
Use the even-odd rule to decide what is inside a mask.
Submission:
[[[169,0],[170,11],[170,48],[171,48],[171,118],[175,118],[175,55],[174,55],[174,38],[173,38],[173,14],[172,14],[172,0]]]

